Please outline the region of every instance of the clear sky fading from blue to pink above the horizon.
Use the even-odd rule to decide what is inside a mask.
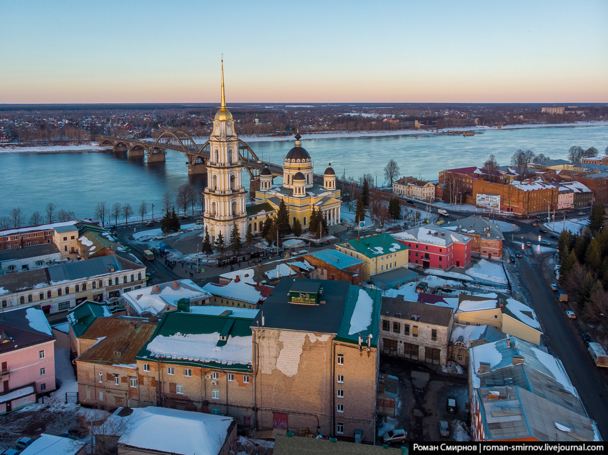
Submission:
[[[606,0],[0,5],[0,104],[608,102]]]

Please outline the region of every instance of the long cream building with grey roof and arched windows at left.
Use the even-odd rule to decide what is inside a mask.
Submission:
[[[9,273],[0,275],[0,301],[2,308],[40,304],[45,313],[57,313],[139,289],[145,271],[145,265],[110,255]]]

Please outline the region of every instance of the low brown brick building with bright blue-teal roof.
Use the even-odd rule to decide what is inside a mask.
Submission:
[[[309,264],[314,265],[315,279],[337,279],[361,284],[363,264],[361,259],[353,258],[337,250],[320,250],[303,256]]]

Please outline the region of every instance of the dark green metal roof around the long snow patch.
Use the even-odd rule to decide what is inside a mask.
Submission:
[[[184,312],[168,312],[162,316],[161,322],[156,327],[154,334],[143,346],[142,350],[136,355],[136,360],[156,360],[156,355],[151,354],[148,351],[148,344],[150,344],[154,338],[162,335],[164,337],[170,337],[171,335],[199,335],[199,334],[214,334],[218,333],[222,336],[229,337],[251,337],[252,318],[237,318],[235,316],[218,316],[218,315],[204,315],[197,313],[184,313]],[[217,346],[224,346],[227,342],[224,341]],[[204,355],[204,352],[201,352]],[[216,361],[201,361],[201,360],[190,360],[187,356],[184,358],[163,358],[165,361],[170,363],[196,366],[202,368],[220,369],[223,368],[227,371],[237,372],[251,372],[252,365],[247,363],[219,363]]]

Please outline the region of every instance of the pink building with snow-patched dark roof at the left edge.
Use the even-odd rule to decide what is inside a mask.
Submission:
[[[55,336],[40,305],[0,313],[0,366],[0,402],[24,386],[55,390]]]

